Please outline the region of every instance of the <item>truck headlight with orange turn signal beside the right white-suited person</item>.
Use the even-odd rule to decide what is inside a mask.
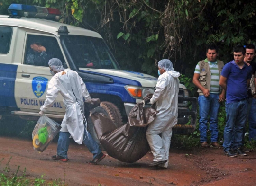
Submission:
[[[151,87],[139,87],[134,85],[126,85],[125,89],[129,95],[135,99],[143,99],[147,94],[153,94],[155,89]]]

